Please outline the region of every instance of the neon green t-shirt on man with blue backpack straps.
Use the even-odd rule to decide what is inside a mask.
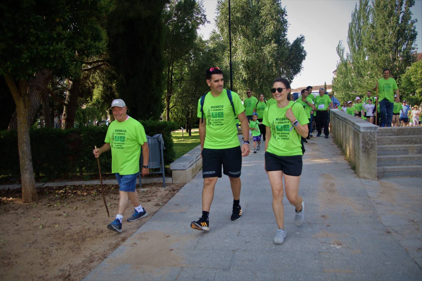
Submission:
[[[223,89],[219,96],[208,92],[205,96],[203,111],[206,122],[206,134],[204,148],[224,149],[239,146],[235,117],[245,111],[239,95],[232,91],[232,100],[235,107],[227,96],[227,90]],[[201,99],[198,99],[197,117],[201,122]]]

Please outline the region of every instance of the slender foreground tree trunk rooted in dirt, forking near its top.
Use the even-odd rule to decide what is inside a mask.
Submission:
[[[22,202],[30,203],[32,201],[38,201],[37,189],[35,188],[34,169],[32,167],[29,126],[32,99],[28,94],[28,85],[26,79],[19,80],[19,86],[16,87],[15,80],[10,75],[4,75],[4,78],[16,103]]]

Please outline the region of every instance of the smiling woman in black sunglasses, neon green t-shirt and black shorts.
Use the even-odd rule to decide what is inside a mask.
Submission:
[[[305,219],[304,204],[298,195],[302,174],[302,143],[300,136],[308,136],[309,120],[303,106],[288,100],[290,83],[277,78],[271,89],[276,103],[264,111],[262,123],[266,128],[265,171],[273,192],[273,211],[277,222],[275,244],[283,244],[284,229],[283,175],[286,197],[295,206],[295,224],[300,226]]]

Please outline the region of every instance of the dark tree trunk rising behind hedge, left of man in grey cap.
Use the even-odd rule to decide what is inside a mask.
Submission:
[[[75,113],[78,103],[79,87],[81,86],[81,79],[69,81],[68,91],[66,92],[65,103],[67,106],[63,108],[62,128],[70,129],[75,126]]]

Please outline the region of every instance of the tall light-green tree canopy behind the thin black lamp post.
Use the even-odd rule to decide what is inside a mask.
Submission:
[[[287,11],[280,0],[238,0],[231,1],[230,7],[233,90],[245,93],[250,88],[255,94],[269,97],[276,77],[292,81],[302,69],[305,37],[300,35],[289,42]],[[229,65],[227,0],[219,1],[216,24],[227,46],[223,62],[226,68]]]

